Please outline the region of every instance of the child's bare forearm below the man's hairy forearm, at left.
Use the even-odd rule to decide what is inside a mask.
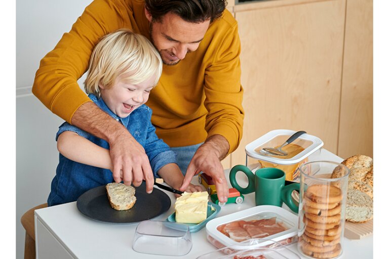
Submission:
[[[57,140],[58,151],[75,162],[112,170],[109,150],[102,148],[75,132],[65,131]]]

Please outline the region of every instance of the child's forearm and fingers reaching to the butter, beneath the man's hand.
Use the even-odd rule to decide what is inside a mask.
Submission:
[[[162,179],[164,179],[168,185],[176,190],[181,187],[182,181],[184,180],[184,176],[182,175],[182,172],[176,163],[169,163],[162,166],[161,169],[158,170],[158,175],[160,175],[160,177],[162,177]],[[189,184],[185,191],[202,192],[204,190],[199,185]]]

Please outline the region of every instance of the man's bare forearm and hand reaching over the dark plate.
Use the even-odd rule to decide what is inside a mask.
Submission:
[[[146,192],[151,193],[154,177],[143,147],[127,128],[115,121],[93,102],[87,102],[75,111],[71,123],[109,143],[112,176],[116,183],[140,186],[146,181]]]

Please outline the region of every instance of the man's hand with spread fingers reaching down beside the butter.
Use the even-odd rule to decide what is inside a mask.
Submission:
[[[203,171],[204,174],[211,176],[215,182],[219,201],[227,202],[228,186],[220,160],[227,155],[228,149],[229,144],[224,137],[220,135],[209,137],[205,143],[199,147],[195,155],[193,155],[186,170],[180,191],[188,188],[193,176],[198,175],[199,172]]]

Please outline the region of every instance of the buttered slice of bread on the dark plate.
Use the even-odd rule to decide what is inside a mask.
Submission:
[[[110,183],[105,186],[111,207],[116,210],[127,210],[134,206],[135,188],[122,183]]]

